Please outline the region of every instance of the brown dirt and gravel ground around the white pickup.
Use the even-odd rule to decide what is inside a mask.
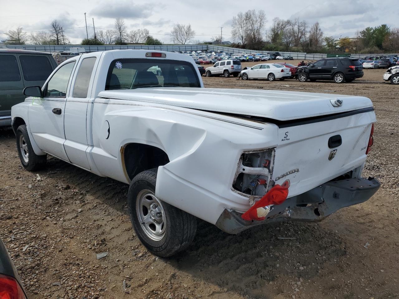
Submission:
[[[0,237],[29,298],[399,298],[399,89],[382,80],[384,72],[365,70],[344,84],[203,77],[205,87],[371,98],[378,122],[363,176],[382,185],[369,201],[320,223],[229,235],[199,222],[190,248],[169,259],[148,253],[135,236],[127,185],[51,157],[45,170],[25,171],[14,134],[1,131]],[[97,260],[102,252],[109,254]]]

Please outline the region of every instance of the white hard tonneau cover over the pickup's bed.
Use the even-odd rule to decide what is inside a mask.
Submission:
[[[294,120],[372,107],[369,98],[315,92],[151,87],[106,90],[102,98],[151,102],[198,110]],[[342,106],[332,102],[342,100]]]

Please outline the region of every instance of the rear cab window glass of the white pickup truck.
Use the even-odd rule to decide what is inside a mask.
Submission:
[[[109,66],[105,90],[142,87],[201,87],[191,63],[160,59],[115,59]]]

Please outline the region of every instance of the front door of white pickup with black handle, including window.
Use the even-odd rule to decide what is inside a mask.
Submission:
[[[64,110],[77,59],[68,59],[53,73],[43,86],[43,98],[32,100],[28,110],[29,128],[39,148],[65,161],[69,159],[64,149]]]

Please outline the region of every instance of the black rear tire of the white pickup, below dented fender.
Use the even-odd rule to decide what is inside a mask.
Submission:
[[[197,219],[191,214],[155,197],[157,171],[158,168],[142,171],[133,178],[128,192],[129,216],[134,231],[148,251],[157,256],[168,257],[185,250],[190,245],[196,234]],[[147,191],[150,193],[146,195]],[[143,194],[144,196],[142,196]],[[162,227],[165,230],[162,236],[158,236],[159,240],[156,240],[156,237],[149,236],[152,223],[148,225],[149,228],[146,228],[144,222],[141,223],[139,219],[142,217],[140,216],[142,215],[141,213],[144,213],[145,210],[145,207],[141,205],[141,198],[147,199],[148,197],[155,201],[154,203],[160,204],[160,206],[157,205],[156,209],[162,210],[160,217],[162,219]],[[139,204],[138,201],[140,201]],[[154,203],[151,203],[150,207]],[[139,211],[137,209],[138,206],[141,206]],[[151,214],[148,209],[147,214]],[[155,212],[155,214],[158,217],[159,212]],[[151,215],[149,215],[150,218],[152,218]]]

